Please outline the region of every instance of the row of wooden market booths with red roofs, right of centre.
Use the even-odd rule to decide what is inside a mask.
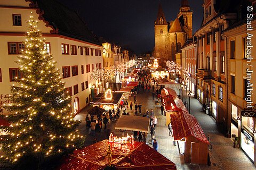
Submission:
[[[207,165],[209,142],[196,117],[188,113],[174,90],[163,89],[161,95],[166,111],[166,125],[171,122],[173,140],[178,141],[185,162]]]

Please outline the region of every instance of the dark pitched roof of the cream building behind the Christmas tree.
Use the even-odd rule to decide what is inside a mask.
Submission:
[[[49,22],[54,29],[57,29],[60,35],[100,45],[98,38],[93,35],[77,12],[70,10],[56,0],[33,1],[43,11],[41,17]]]

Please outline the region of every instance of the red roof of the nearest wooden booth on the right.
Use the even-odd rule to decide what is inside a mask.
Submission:
[[[171,114],[171,124],[174,140],[193,136],[199,141],[209,143],[195,116],[181,110],[173,112]]]

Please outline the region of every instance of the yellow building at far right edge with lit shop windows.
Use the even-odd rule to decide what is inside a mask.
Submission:
[[[253,15],[247,16],[250,21]],[[238,22],[223,33],[227,37],[227,126],[229,134],[239,137],[241,148],[255,165],[255,116],[242,114],[246,110],[256,114],[253,88],[256,84],[256,38],[251,37],[256,35],[256,30],[246,30],[246,27],[256,28],[256,20],[249,23]]]

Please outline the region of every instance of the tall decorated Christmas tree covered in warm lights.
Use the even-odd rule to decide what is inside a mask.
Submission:
[[[4,116],[10,122],[5,127],[9,133],[0,138],[0,157],[13,165],[29,157],[36,158],[33,161],[40,165],[72,152],[84,142],[77,130],[80,122],[71,113],[65,82],[52,55],[44,50],[44,39],[32,14],[27,23],[26,48],[17,61],[19,77],[11,86],[12,104],[5,106],[10,113]]]

